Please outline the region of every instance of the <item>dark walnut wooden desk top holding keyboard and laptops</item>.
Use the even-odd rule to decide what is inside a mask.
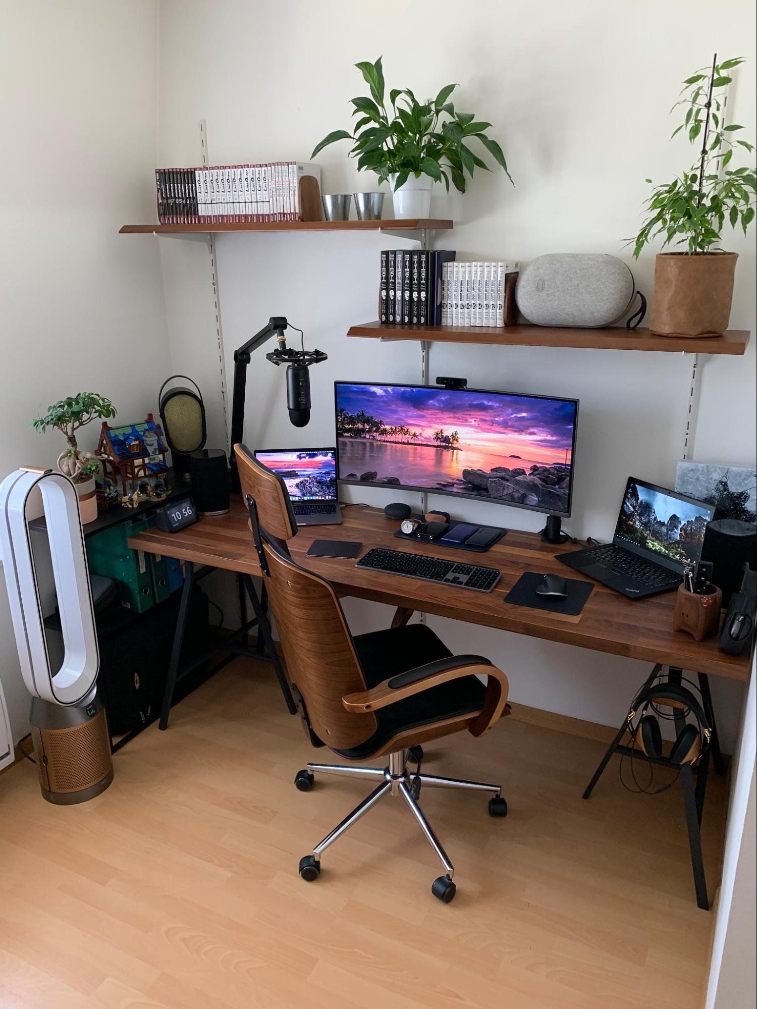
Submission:
[[[593,583],[593,591],[579,616],[564,616],[504,602],[504,597],[524,571],[542,574],[564,571],[571,578],[592,581],[577,571],[565,571],[563,565],[554,560],[556,553],[574,549],[569,544],[554,547],[542,543],[536,533],[510,530],[486,553],[473,554],[396,539],[397,521],[387,519],[379,509],[351,504],[342,510],[342,518],[340,526],[301,528],[295,539],[290,541],[290,550],[298,564],[328,578],[343,595],[406,606],[599,652],[680,666],[741,682],[749,679],[748,655],[726,655],[718,649],[717,637],[695,642],[688,635],[672,630],[674,592],[632,600]],[[311,543],[318,539],[359,540],[362,543],[361,555],[370,547],[386,547],[496,567],[502,571],[502,579],[492,592],[472,592],[470,589],[356,568],[352,559],[307,557]],[[232,500],[227,515],[201,519],[182,532],[164,533],[153,528],[131,537],[128,542],[135,550],[147,553],[165,554],[242,574],[260,574],[241,501]]]

